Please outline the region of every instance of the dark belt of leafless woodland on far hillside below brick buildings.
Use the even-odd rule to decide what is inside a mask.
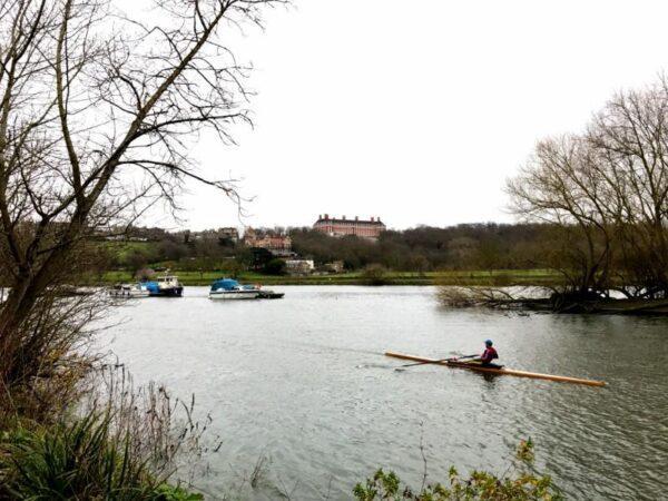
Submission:
[[[272,232],[264,228],[262,232]],[[284,230],[282,228],[282,230]],[[370,265],[402,272],[442,269],[525,269],[540,265],[540,255],[553,238],[547,224],[462,224],[450,227],[419,226],[387,230],[377,240],[355,236],[332,237],[310,227],[288,228],[293,252],[316,265],[343,262],[346,271]],[[271,261],[243,243],[228,239],[190,239],[183,233],[164,233],[146,243],[106,244],[107,267],[139,269],[168,266],[183,271],[258,268]],[[259,267],[264,266],[264,262]]]

